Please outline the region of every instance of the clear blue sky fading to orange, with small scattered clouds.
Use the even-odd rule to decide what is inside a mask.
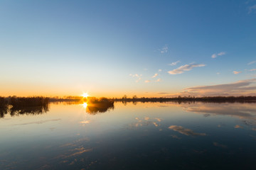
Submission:
[[[256,95],[256,1],[0,1],[0,96]]]

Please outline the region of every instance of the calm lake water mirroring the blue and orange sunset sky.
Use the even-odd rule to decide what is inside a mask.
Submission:
[[[51,103],[0,118],[0,169],[256,169],[255,103]]]

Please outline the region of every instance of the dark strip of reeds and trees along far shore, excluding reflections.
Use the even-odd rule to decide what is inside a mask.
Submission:
[[[122,98],[95,98],[87,97],[83,98],[82,96],[68,96],[65,98],[53,97],[46,98],[41,96],[36,97],[1,97],[0,96],[0,108],[5,108],[7,106],[20,107],[20,106],[45,106],[49,102],[54,101],[77,101],[79,103],[103,103],[103,104],[112,104],[114,101],[141,101],[141,102],[166,102],[166,101],[256,101],[256,96],[206,96],[206,97],[195,97],[195,96],[178,96],[172,98],[137,98],[133,96],[128,98],[124,95]]]

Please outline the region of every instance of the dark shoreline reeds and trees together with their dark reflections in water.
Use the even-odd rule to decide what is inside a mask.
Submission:
[[[174,101],[178,103],[183,102],[256,102],[256,96],[211,96],[211,97],[194,97],[194,96],[178,96],[173,98],[137,98],[133,96],[128,98],[126,95],[122,98],[95,98],[95,97],[81,97],[81,96],[68,96],[65,98],[46,98],[46,97],[1,97],[0,96],[0,118],[10,113],[11,115],[19,114],[41,114],[46,113],[49,108],[50,102],[71,102],[71,103],[87,103],[86,111],[90,114],[103,113],[109,109],[114,109],[114,102],[121,101],[127,102],[168,102]]]

